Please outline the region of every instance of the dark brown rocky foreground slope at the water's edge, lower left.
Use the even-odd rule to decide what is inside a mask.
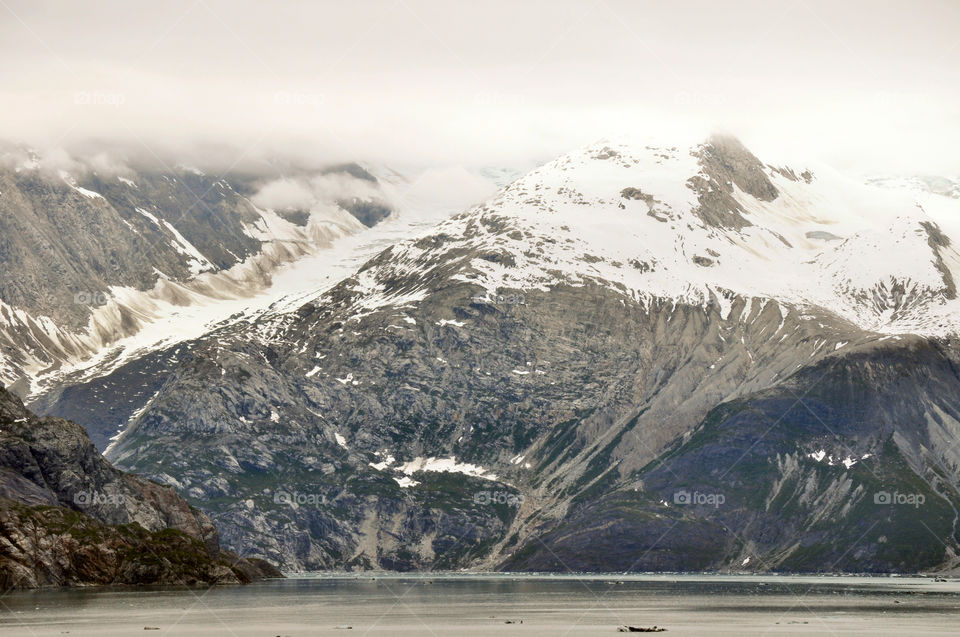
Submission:
[[[0,389],[0,588],[275,575],[221,550],[210,518],[170,487],[111,467],[82,427]]]

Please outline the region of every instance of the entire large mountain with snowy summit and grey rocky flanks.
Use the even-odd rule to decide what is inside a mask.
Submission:
[[[295,311],[37,404],[93,430],[114,405],[111,459],[288,568],[945,567],[941,199],[730,138],[600,143]]]

